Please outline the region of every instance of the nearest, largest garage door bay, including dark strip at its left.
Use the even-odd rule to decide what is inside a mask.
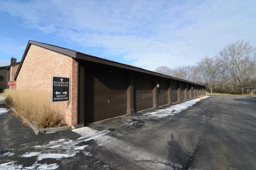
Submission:
[[[126,83],[121,75],[85,73],[85,123],[126,114]]]

